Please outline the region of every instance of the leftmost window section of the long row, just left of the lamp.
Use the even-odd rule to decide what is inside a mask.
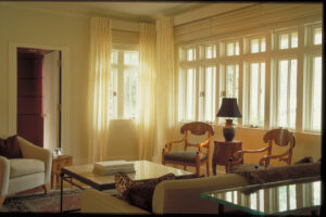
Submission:
[[[216,66],[200,63],[216,58],[216,46],[181,48],[179,56],[178,122],[214,122]]]

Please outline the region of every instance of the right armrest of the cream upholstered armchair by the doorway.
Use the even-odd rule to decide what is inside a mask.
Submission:
[[[24,158],[36,158],[45,162],[46,165],[46,177],[45,183],[50,182],[51,180],[51,167],[52,167],[52,153],[50,150],[37,146],[32,142],[17,137],[17,141],[22,149],[22,154]]]

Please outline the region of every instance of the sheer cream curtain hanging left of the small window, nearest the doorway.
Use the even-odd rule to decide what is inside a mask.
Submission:
[[[112,47],[111,20],[90,21],[88,86],[88,162],[103,161],[109,136],[109,81]]]

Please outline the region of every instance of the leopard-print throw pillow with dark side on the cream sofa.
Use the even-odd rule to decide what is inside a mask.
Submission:
[[[161,181],[175,179],[175,175],[166,174],[162,177],[148,181],[134,181],[126,174],[120,171],[115,174],[114,179],[115,188],[121,199],[151,212],[155,186]]]

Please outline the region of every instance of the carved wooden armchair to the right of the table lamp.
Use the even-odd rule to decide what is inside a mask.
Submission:
[[[273,129],[269,130],[265,133],[263,141],[265,143],[268,142],[267,146],[261,149],[261,150],[242,150],[242,151],[237,151],[234,154],[233,158],[229,158],[228,162],[228,168],[229,170],[227,173],[236,173],[240,170],[252,170],[252,169],[258,169],[259,167],[266,168],[269,166],[269,161],[271,159],[278,159],[283,161],[286,164],[290,165],[291,159],[292,159],[292,150],[296,145],[296,138],[293,132],[284,129],[284,128],[278,128],[278,129]],[[279,146],[288,146],[288,149],[280,154],[272,154],[272,146],[273,144],[279,145]],[[266,155],[264,155],[259,164],[243,164],[243,154],[247,153],[262,153],[266,152]]]

